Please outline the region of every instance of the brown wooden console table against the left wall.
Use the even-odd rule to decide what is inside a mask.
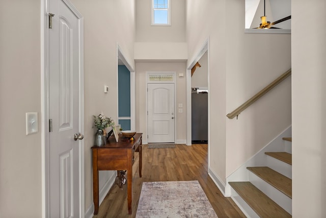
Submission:
[[[119,137],[119,142],[116,142],[115,137],[111,136],[105,146],[92,147],[94,214],[98,213],[99,207],[98,171],[123,170],[127,170],[128,213],[132,213],[132,164],[134,152],[139,152],[139,177],[142,177],[142,135],[143,133],[136,133],[133,136],[133,141]]]

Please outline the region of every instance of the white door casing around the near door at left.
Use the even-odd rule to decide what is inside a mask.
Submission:
[[[42,217],[49,217],[49,2],[41,1],[41,150]],[[63,1],[79,19],[79,132],[84,133],[84,18],[69,2]],[[79,214],[85,217],[84,140],[79,141]]]

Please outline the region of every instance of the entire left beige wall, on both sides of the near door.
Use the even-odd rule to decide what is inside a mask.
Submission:
[[[134,67],[135,5],[133,0],[73,0],[72,3],[84,16],[85,209],[88,209],[93,203],[92,115],[103,112],[117,120],[117,43]],[[38,112],[41,127],[40,7],[41,2],[36,0],[2,1],[0,7],[1,217],[42,215],[41,133],[25,135],[25,112]],[[103,93],[104,85],[110,87],[109,94]],[[101,172],[100,186],[113,173]]]

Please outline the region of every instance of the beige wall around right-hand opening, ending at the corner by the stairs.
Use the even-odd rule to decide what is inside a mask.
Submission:
[[[218,177],[224,179],[226,178],[225,0],[188,0],[186,5],[188,64],[197,58],[201,47],[209,39],[209,166]]]

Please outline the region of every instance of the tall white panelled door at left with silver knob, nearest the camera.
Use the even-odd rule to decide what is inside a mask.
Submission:
[[[67,5],[68,4],[68,5]],[[64,0],[49,0],[49,216],[81,217],[80,20]],[[74,135],[79,138],[74,137]]]

